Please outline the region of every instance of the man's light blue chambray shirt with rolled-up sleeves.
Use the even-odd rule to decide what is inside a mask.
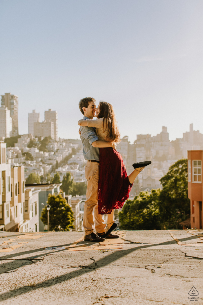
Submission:
[[[83,120],[89,120],[89,117],[83,117]],[[99,140],[93,127],[80,126],[83,156],[85,160],[100,160],[100,150],[93,147],[92,143]]]

